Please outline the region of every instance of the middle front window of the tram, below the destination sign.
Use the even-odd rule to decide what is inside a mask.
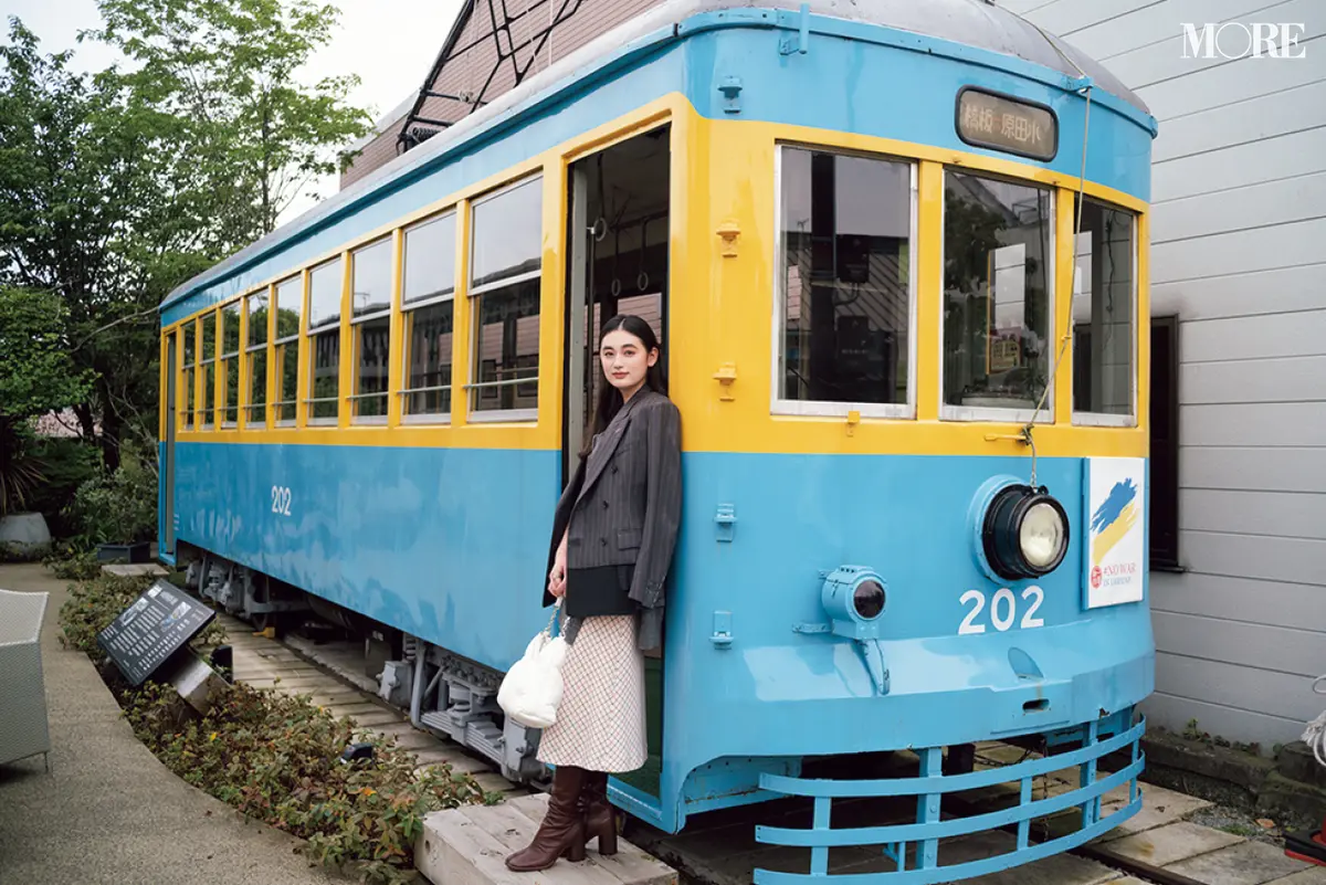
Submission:
[[[1049,188],[945,170],[944,416],[1030,419],[1050,371]],[[1041,417],[1053,416],[1045,396]]]

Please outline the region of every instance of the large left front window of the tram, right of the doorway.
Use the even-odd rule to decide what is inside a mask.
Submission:
[[[910,415],[912,166],[789,147],[781,167],[782,407]]]

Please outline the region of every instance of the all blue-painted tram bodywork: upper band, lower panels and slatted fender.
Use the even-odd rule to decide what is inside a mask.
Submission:
[[[1062,74],[918,34],[819,19],[808,54],[781,56],[780,40],[797,38],[793,19],[761,11],[699,16],[676,32],[623,46],[464,143],[411,151],[318,224],[297,234],[277,232],[220,278],[183,287],[163,305],[162,321],[170,325],[245,291],[672,93],[716,119],[993,155],[953,131],[957,90],[981,85],[1053,107],[1059,150],[1042,166],[1079,172],[1086,107],[1073,91],[1079,83]],[[727,113],[719,90],[731,77],[743,82],[736,115]],[[1152,132],[1146,115],[1094,95],[1087,178],[1148,199]],[[550,450],[182,441],[175,499],[166,502],[163,482],[162,503],[172,503],[182,542],[505,669],[546,623],[536,600],[560,461]],[[1086,742],[1083,778],[1089,772],[1094,782],[1106,746],[1098,738],[1126,733],[1131,737],[1116,743],[1131,746],[1136,763],[1139,733],[1126,730],[1134,705],[1152,690],[1148,604],[1083,609],[1081,458],[1038,464],[1041,482],[1071,522],[1066,560],[1036,582],[1044,599],[1034,616],[1044,625],[1024,627],[1032,582],[1008,586],[1013,623],[1006,631],[992,625],[991,601],[1001,584],[975,555],[972,505],[992,478],[1022,480],[1026,466],[1025,458],[998,457],[687,452],[668,598],[660,795],[614,782],[617,802],[676,831],[688,813],[797,792],[796,784],[806,783],[798,782],[802,756],[918,749],[923,776],[908,786],[920,796],[919,821],[937,825],[943,790],[936,784],[944,780],[937,747],[1049,733],[1066,745]],[[273,511],[273,488],[290,489],[288,515]],[[715,519],[725,505],[736,522]],[[887,584],[874,647],[887,668],[887,694],[861,644],[817,628],[827,620],[823,575],[843,564],[869,567]],[[969,611],[960,600],[973,590],[985,594],[979,619],[985,632],[959,635]],[[712,641],[716,633],[727,641]],[[1001,780],[1026,783],[1029,771],[1029,763],[1010,766]],[[1098,795],[1086,791],[1090,782],[1070,796],[1098,812]],[[1024,790],[1024,808],[1028,795]],[[1135,788],[1131,800],[1123,816],[1136,809]],[[829,833],[827,806],[818,803],[815,817],[823,812],[825,828],[814,832]],[[1073,836],[1071,844],[1118,821],[1085,816],[1087,835]],[[786,844],[819,852],[838,843]],[[1016,859],[964,873],[992,872],[1069,844],[1029,848],[1020,839]],[[928,869],[886,881],[940,881],[932,848],[927,839],[922,864]],[[785,881],[772,876],[760,881]]]

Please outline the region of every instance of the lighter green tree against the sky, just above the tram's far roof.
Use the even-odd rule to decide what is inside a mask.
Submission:
[[[131,81],[155,106],[194,122],[198,162],[235,188],[235,216],[256,209],[251,237],[276,229],[313,179],[350,160],[373,131],[346,103],[354,76],[312,87],[296,73],[332,40],[338,11],[309,0],[101,0],[94,36],[141,62]]]

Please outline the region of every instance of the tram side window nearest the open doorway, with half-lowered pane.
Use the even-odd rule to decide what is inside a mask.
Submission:
[[[469,295],[475,317],[475,412],[538,408],[542,178],[473,207]],[[524,417],[524,415],[521,415]]]

